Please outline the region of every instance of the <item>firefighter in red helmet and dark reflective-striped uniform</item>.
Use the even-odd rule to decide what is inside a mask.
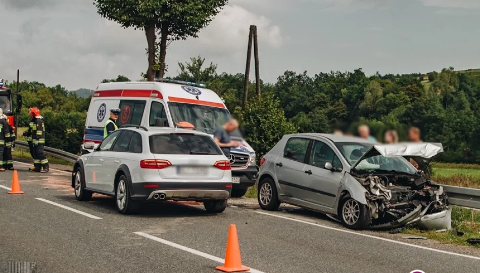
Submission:
[[[43,152],[45,146],[45,125],[43,124],[43,117],[40,116],[38,108],[30,108],[30,115],[33,120],[32,127],[32,143],[33,143],[33,170],[31,172],[47,172],[49,171],[49,160],[46,159]]]

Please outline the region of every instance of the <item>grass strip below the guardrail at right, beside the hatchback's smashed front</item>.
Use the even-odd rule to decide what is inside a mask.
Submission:
[[[402,231],[402,233],[423,236],[442,243],[474,246],[480,248],[480,245],[471,245],[466,241],[469,238],[480,238],[480,211],[453,206],[452,228],[456,229],[458,232],[463,232],[464,235],[458,236],[452,231],[436,232],[420,231],[417,229],[405,229]]]

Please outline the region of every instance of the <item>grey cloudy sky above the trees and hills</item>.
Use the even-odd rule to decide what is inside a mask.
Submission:
[[[173,42],[177,62],[201,55],[218,72],[244,73],[248,30],[258,27],[260,75],[367,74],[480,67],[480,0],[230,0],[199,38]],[[101,18],[91,0],[0,0],[0,78],[73,90],[147,69],[140,30]],[[253,71],[253,68],[252,68]]]

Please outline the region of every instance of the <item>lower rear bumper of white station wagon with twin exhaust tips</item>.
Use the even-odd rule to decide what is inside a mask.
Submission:
[[[225,200],[230,197],[231,183],[134,183],[131,196],[133,200]],[[160,198],[162,197],[162,198]]]

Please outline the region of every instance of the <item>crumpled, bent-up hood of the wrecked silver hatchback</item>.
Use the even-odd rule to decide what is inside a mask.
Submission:
[[[424,170],[431,159],[443,152],[441,143],[433,142],[402,142],[398,144],[378,144],[373,145],[358,161],[352,166],[354,169],[360,161],[365,158],[382,155],[385,157],[405,157],[415,160],[419,165],[419,170]]]

